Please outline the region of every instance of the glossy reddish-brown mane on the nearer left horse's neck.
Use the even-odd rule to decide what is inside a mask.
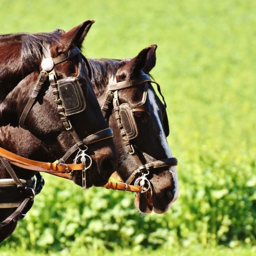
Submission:
[[[0,35],[0,101],[29,73],[39,70],[42,42],[63,44],[58,31]]]

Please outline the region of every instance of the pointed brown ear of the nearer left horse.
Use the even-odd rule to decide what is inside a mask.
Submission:
[[[61,47],[58,46],[59,49],[57,49],[57,52],[65,52],[72,46],[81,48],[84,38],[94,23],[94,20],[87,20],[86,22],[83,22],[82,24],[69,30],[68,32],[61,34],[61,39],[65,43],[65,46],[63,46],[62,49],[60,49]]]

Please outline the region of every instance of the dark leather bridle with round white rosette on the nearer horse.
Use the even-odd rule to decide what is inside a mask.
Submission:
[[[58,79],[57,75],[54,71],[54,66],[58,63],[63,61],[67,61],[72,57],[78,55],[79,61],[79,72],[76,77],[67,77],[63,79]],[[81,51],[76,47],[73,50],[70,50],[66,53],[60,54],[55,58],[51,57],[50,53],[50,45],[46,42],[43,42],[42,47],[42,71],[39,74],[39,78],[37,84],[32,92],[32,95],[25,106],[25,109],[20,116],[19,119],[19,126],[26,129],[25,127],[25,120],[33,107],[33,104],[36,100],[37,95],[39,94],[41,87],[49,78],[50,85],[52,87],[52,92],[54,95],[54,102],[57,104],[57,110],[60,115],[60,119],[67,131],[70,132],[71,136],[73,137],[74,141],[76,142],[67,152],[66,154],[60,158],[57,162],[59,165],[66,166],[66,172],[69,173],[70,168],[69,165],[66,164],[67,159],[77,150],[78,154],[74,159],[74,165],[76,165],[79,161],[84,165],[82,169],[82,187],[86,188],[86,170],[89,169],[92,165],[92,158],[87,155],[85,152],[88,149],[88,145],[98,142],[100,140],[105,140],[113,137],[113,131],[111,128],[104,129],[99,131],[95,134],[92,134],[84,139],[81,139],[80,136],[75,131],[74,127],[72,126],[69,116],[75,115],[80,113],[86,109],[86,100],[84,99],[80,79],[82,77],[82,72],[84,72],[84,67],[88,65],[84,65],[83,59],[81,56]],[[86,63],[85,63],[86,64]],[[86,83],[90,84],[89,74],[83,77],[86,79]],[[89,160],[89,164],[86,165],[86,161]],[[79,169],[71,169],[73,170]]]

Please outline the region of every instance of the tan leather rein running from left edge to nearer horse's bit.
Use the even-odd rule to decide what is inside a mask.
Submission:
[[[9,162],[16,166],[26,168],[28,170],[34,170],[36,172],[70,173],[72,170],[84,169],[83,164],[57,164],[30,160],[28,158],[13,154],[10,151],[5,150],[3,147],[0,147],[0,157],[7,159]]]

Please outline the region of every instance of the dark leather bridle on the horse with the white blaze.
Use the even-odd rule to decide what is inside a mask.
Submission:
[[[106,113],[108,112],[108,110],[111,109],[113,104],[117,126],[120,129],[123,144],[125,145],[125,148],[129,152],[129,154],[133,156],[134,160],[138,165],[138,168],[134,170],[134,172],[126,180],[125,184],[127,187],[127,185],[131,185],[134,182],[135,186],[141,187],[140,193],[145,193],[151,187],[151,183],[146,177],[147,175],[150,174],[151,170],[167,168],[178,164],[178,160],[175,157],[165,158],[162,160],[153,161],[151,163],[146,163],[146,160],[142,152],[138,151],[136,146],[133,144],[133,139],[139,136],[138,127],[133,115],[133,109],[137,108],[140,105],[143,105],[147,100],[148,83],[146,82],[157,84],[158,92],[162,96],[164,107],[166,109],[166,102],[161,93],[159,84],[155,81],[152,81],[150,76],[145,74],[143,71],[140,72],[140,75],[136,77],[136,79],[134,79],[132,83],[129,83],[129,81],[125,80],[117,82],[116,84],[109,84],[107,87],[107,92],[105,94],[104,102],[101,106],[103,116],[106,117]],[[129,103],[120,104],[118,99],[118,92],[120,90],[136,87],[142,83],[145,83],[144,92],[142,100],[139,103],[133,106]],[[164,115],[163,123],[165,135],[167,137],[169,134],[169,127],[166,113]]]

